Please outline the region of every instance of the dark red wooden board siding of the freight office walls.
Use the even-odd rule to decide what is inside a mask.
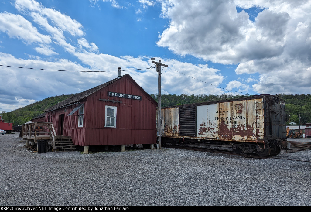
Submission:
[[[108,91],[139,95],[142,96],[142,100],[110,97]],[[122,103],[99,99],[118,100]],[[52,114],[55,131],[58,132],[58,116],[64,114],[63,135],[71,136],[74,145],[156,143],[156,104],[128,77],[120,78],[79,102],[84,104],[83,127],[78,127],[78,111],[67,116],[78,104],[46,112],[45,116],[47,122],[49,114]],[[106,105],[117,107],[116,127],[104,127]]]

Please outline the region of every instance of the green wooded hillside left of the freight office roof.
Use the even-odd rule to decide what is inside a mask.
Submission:
[[[1,115],[3,115],[2,118],[5,122],[13,122],[13,125],[20,125],[30,121],[36,116],[39,116],[41,113],[44,113],[44,110],[69,98],[72,95],[74,94],[52,96],[11,112],[2,111]]]

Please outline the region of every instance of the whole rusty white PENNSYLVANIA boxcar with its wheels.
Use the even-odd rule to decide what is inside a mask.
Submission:
[[[162,144],[225,142],[236,153],[274,156],[286,141],[285,101],[278,95],[161,108]]]

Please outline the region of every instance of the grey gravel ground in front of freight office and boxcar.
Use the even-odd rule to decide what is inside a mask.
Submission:
[[[169,148],[38,154],[18,136],[0,135],[1,206],[311,205],[308,162]]]

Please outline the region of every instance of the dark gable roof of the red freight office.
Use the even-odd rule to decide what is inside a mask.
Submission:
[[[142,91],[142,93],[144,93],[150,97],[150,100],[151,100],[151,102],[153,102],[153,104],[158,106],[158,103],[156,102],[156,100],[154,100],[145,90],[143,90],[142,87],[140,85],[138,85],[137,82],[135,82],[131,76],[129,76],[128,74],[125,74],[125,75],[121,76],[119,79],[122,79],[123,77],[126,77],[126,78],[128,78],[128,80],[132,81],[132,83],[135,84],[135,86],[137,86]],[[55,104],[54,106],[46,109],[45,111],[52,111],[52,110],[56,110],[58,108],[68,106],[69,104],[78,103],[81,99],[86,98],[87,96],[95,93],[96,91],[98,91],[98,90],[100,90],[100,89],[102,89],[102,88],[104,88],[104,87],[106,87],[106,86],[108,86],[108,85],[110,85],[116,81],[118,81],[119,79],[117,77],[113,80],[105,82],[105,83],[98,85],[94,88],[91,88],[89,90],[83,91],[83,92],[78,93],[78,94],[75,94],[75,95],[69,97],[68,99],[65,99],[64,101],[62,101],[58,104]]]

